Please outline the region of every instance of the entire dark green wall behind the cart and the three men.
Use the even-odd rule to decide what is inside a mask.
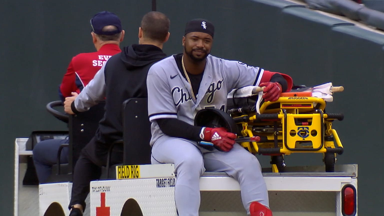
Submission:
[[[207,18],[215,24],[212,54],[267,70],[288,73],[295,84],[333,81],[345,91],[334,95],[327,110],[343,112],[334,122],[345,147],[338,163],[359,164],[359,209],[379,215],[384,180],[380,152],[384,129],[384,35],[330,18],[284,0],[157,0],[157,10],[171,20],[168,54],[182,52],[185,23]],[[94,50],[89,19],[101,10],[121,17],[126,30],[122,46],[137,42],[142,15],[152,0],[57,2],[3,1],[0,23],[3,92],[0,117],[3,149],[1,188],[3,215],[11,215],[13,141],[33,130],[65,130],[45,111],[58,100],[57,87],[72,56]],[[377,152],[377,153],[376,153]],[[376,153],[376,154],[375,154]],[[269,166],[266,156],[258,157]],[[322,164],[321,155],[293,154],[289,166]],[[372,195],[374,194],[374,195]],[[377,195],[376,195],[377,194]],[[362,212],[364,211],[364,212]]]

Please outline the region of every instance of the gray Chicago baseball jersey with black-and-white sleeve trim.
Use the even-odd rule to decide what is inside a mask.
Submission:
[[[173,56],[155,63],[147,77],[148,114],[152,122],[151,145],[164,136],[156,119],[177,118],[193,125],[195,114],[201,109],[214,107],[225,111],[227,94],[234,88],[259,85],[263,72],[262,68],[240,61],[208,55],[195,101],[190,85],[182,76]]]

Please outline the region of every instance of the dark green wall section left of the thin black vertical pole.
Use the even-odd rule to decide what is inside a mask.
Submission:
[[[1,215],[13,215],[14,141],[33,130],[66,130],[45,105],[59,100],[58,85],[74,55],[94,52],[89,20],[103,10],[122,20],[122,45],[137,43],[141,17],[151,0],[2,1],[0,115]]]

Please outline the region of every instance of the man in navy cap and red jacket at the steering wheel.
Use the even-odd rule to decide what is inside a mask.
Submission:
[[[97,13],[91,19],[91,27],[97,52],[80,53],[72,58],[59,89],[62,101],[65,97],[80,93],[104,63],[111,56],[121,52],[119,45],[124,38],[124,30],[121,28],[120,19],[114,13]],[[40,183],[45,183],[50,176],[58,149],[63,143],[68,143],[68,138],[44,140],[33,148],[33,161]],[[61,151],[60,161],[68,163],[68,148]]]

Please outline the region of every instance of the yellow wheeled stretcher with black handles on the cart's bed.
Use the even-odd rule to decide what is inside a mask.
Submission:
[[[343,87],[331,87],[331,93],[336,91]],[[332,122],[343,120],[343,114],[326,113],[325,106],[323,98],[303,91],[282,93],[277,101],[261,103],[259,110],[245,105],[227,112],[241,127],[238,143],[252,153],[270,155],[273,172],[284,171],[284,155],[291,153],[323,153],[326,171],[333,172],[343,145]]]

